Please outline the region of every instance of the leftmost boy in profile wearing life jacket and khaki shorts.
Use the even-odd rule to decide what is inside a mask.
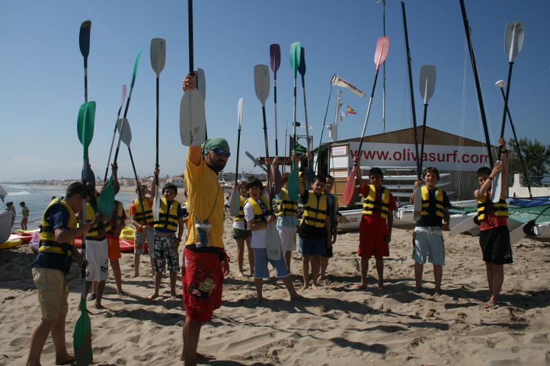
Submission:
[[[69,310],[67,274],[72,260],[83,266],[74,239],[87,233],[94,222],[80,222],[75,213],[82,209],[83,185],[73,182],[67,186],[65,199],[54,199],[44,211],[40,225],[39,253],[32,262],[32,279],[38,290],[41,321],[32,331],[27,365],[40,365],[40,356],[48,335],[52,332],[56,365],[74,362],[65,344],[65,318]]]

